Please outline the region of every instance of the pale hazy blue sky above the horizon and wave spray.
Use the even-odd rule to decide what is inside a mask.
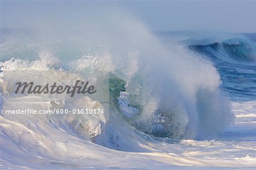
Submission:
[[[256,1],[1,1],[1,26],[14,26],[16,18],[32,18],[37,11],[64,7],[72,14],[81,6],[95,13],[100,6],[118,7],[152,31],[256,32]]]

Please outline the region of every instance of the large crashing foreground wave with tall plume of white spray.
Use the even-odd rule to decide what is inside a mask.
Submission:
[[[233,122],[229,101],[220,93],[220,76],[210,61],[189,52],[182,45],[167,49],[142,23],[123,17],[127,19],[116,15],[106,18],[108,22],[104,23],[110,24],[113,29],[105,29],[98,22],[93,35],[91,28],[78,30],[79,34],[77,28],[81,27],[73,25],[69,28],[75,29],[73,32],[76,33],[67,34],[66,28],[58,30],[57,25],[56,28],[52,26],[51,34],[49,30],[37,30],[28,39],[19,41],[16,35],[11,35],[1,43],[1,75],[11,70],[50,70],[63,74],[70,72],[78,77],[89,76],[97,81],[97,74],[110,73],[109,121],[105,121],[105,117],[86,115],[36,119],[40,122],[36,131],[46,133],[46,137],[40,140],[57,140],[57,132],[62,134],[64,131],[63,138],[75,135],[79,138],[77,140],[84,139],[117,150],[144,151],[137,141],[146,145],[152,140],[148,135],[172,139],[214,138]],[[94,16],[92,23],[97,23],[97,19]],[[55,38],[48,37],[56,32],[55,29],[58,30]],[[24,49],[27,52],[19,53]],[[54,74],[33,78],[56,80]],[[2,89],[5,89],[4,86],[1,84]],[[20,100],[29,99],[27,96],[4,97],[1,105],[5,109],[18,107]],[[44,99],[46,102],[31,104],[30,107],[52,107],[51,97]],[[86,107],[96,107],[90,98],[63,99],[60,103],[64,105],[59,107],[80,108],[85,106],[85,101],[90,101]],[[10,117],[3,113],[1,117],[8,123]],[[29,116],[17,121],[21,124],[19,126],[30,131],[35,124],[35,119]],[[44,126],[54,129],[55,135],[49,135],[51,139],[47,137],[51,131]],[[1,128],[8,134],[7,128]],[[16,131],[8,135],[19,140]],[[34,135],[35,140],[40,136]],[[26,143],[27,138],[20,140]],[[55,147],[54,144],[51,146]],[[41,151],[50,152],[44,148],[40,148]],[[55,153],[55,156],[59,154]]]

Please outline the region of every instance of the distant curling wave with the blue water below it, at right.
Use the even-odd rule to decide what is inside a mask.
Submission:
[[[207,56],[221,75],[221,89],[234,100],[256,99],[256,44],[247,38],[232,38],[189,49]]]

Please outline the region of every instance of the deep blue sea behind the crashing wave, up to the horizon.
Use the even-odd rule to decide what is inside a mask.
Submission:
[[[164,42],[176,39],[210,60],[220,74],[222,94],[234,101],[255,100],[256,35],[200,32],[156,32]]]

